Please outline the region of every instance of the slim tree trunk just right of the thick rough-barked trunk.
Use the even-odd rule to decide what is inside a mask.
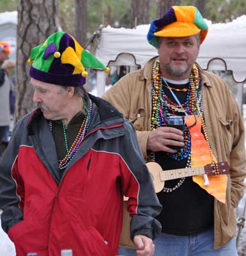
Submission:
[[[82,45],[86,47],[86,20],[87,20],[87,5],[86,0],[74,0],[75,8],[75,24],[74,37]]]

